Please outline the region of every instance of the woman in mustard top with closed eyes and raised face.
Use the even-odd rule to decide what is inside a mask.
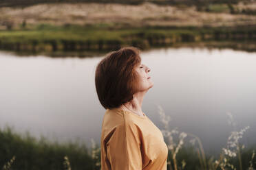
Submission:
[[[106,109],[101,132],[101,170],[166,170],[168,148],[162,132],[142,112],[153,87],[140,50],[123,47],[96,66],[95,85]]]

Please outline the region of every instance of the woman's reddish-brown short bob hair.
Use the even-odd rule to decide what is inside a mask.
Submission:
[[[95,85],[100,104],[105,108],[118,108],[134,99],[139,86],[136,66],[141,64],[140,49],[122,47],[107,53],[95,71]]]

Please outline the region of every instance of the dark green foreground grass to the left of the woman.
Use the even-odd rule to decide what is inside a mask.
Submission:
[[[10,127],[0,130],[0,168],[13,156],[12,169],[64,169],[64,157],[72,169],[94,169],[94,160],[85,145],[50,143],[36,140],[30,134],[17,134]]]

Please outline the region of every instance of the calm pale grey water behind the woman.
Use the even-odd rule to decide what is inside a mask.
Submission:
[[[160,129],[158,104],[170,127],[199,136],[208,153],[225,146],[231,112],[243,143],[256,143],[256,53],[231,49],[157,49],[141,54],[154,82],[142,110]],[[0,52],[0,126],[58,141],[100,143],[105,109],[94,88],[95,58],[17,57]],[[187,138],[189,141],[189,138]]]

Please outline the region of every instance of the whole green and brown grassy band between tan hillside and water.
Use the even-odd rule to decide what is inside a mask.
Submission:
[[[181,42],[256,41],[254,27],[123,27],[111,25],[37,25],[0,31],[0,49],[18,53],[109,51],[132,45],[141,49]],[[252,47],[256,50],[256,47]]]

